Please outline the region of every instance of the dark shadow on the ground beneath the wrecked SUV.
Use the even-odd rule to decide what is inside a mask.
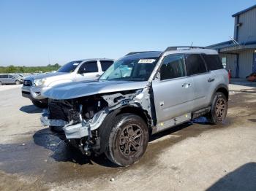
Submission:
[[[207,120],[204,117],[200,117],[193,122],[201,125],[208,124]],[[187,122],[182,125],[170,128],[169,130],[165,130],[161,133],[157,133],[156,135],[150,137],[149,142],[159,139],[160,137],[170,135],[171,133],[178,132],[179,130],[182,130],[184,128],[188,128],[190,125],[193,124],[193,122]],[[86,157],[85,155],[82,155],[79,149],[72,147],[70,144],[67,144],[67,142],[64,141],[64,133],[53,133],[49,128],[38,130],[34,134],[33,139],[35,144],[44,147],[45,149],[50,149],[53,152],[53,155],[51,155],[50,157],[58,162],[69,161],[80,165],[88,163],[92,164],[94,162],[106,167],[118,167],[117,165],[111,163],[104,154],[100,156],[93,155],[91,157]]]

